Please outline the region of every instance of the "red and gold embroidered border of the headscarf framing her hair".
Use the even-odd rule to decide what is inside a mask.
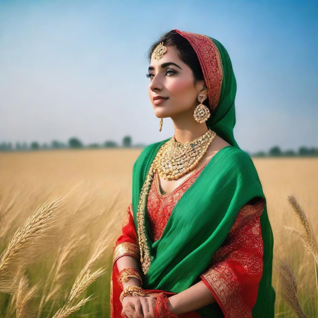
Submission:
[[[214,111],[218,107],[223,81],[223,65],[221,54],[213,40],[206,35],[186,31],[177,31],[186,38],[200,61],[205,84],[208,87],[209,104]]]

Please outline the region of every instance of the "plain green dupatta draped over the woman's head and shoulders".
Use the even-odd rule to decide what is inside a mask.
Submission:
[[[207,121],[208,127],[231,144],[219,150],[194,183],[176,203],[162,237],[152,242],[147,213],[138,214],[140,200],[147,202],[151,164],[161,142],[145,147],[133,166],[132,206],[138,239],[149,255],[143,287],[180,293],[197,283],[213,254],[225,241],[239,210],[254,197],[265,201],[260,217],[264,243],[263,275],[259,282],[253,318],[273,318],[275,291],[272,287],[273,233],[267,216],[266,198],[251,157],[241,150],[233,136],[236,81],[229,56],[217,40],[224,78],[218,107]],[[143,251],[145,252],[145,251]],[[143,259],[145,262],[145,259]],[[216,302],[197,310],[204,317],[224,317]]]

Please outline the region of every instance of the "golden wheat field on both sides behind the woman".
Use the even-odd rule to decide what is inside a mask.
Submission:
[[[131,202],[140,152],[0,153],[0,317],[109,317],[112,247]],[[318,159],[252,159],[267,199],[274,265],[286,257],[302,311],[318,317],[314,258],[285,228],[301,230],[287,200],[293,195],[317,233]],[[273,287],[275,316],[297,317],[280,294],[276,268]]]

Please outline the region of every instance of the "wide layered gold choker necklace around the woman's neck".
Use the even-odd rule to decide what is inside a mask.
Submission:
[[[179,179],[197,166],[215,135],[209,128],[204,135],[184,143],[176,141],[173,135],[158,150],[153,161],[153,171],[157,169],[164,179]]]

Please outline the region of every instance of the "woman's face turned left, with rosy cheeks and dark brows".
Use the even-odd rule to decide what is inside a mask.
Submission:
[[[168,46],[159,60],[151,57],[149,76],[149,97],[158,118],[193,113],[199,104],[197,96],[204,87],[204,81],[194,85],[192,70],[178,58],[173,47]],[[160,100],[156,101],[154,97],[159,95],[168,99],[158,103]]]

